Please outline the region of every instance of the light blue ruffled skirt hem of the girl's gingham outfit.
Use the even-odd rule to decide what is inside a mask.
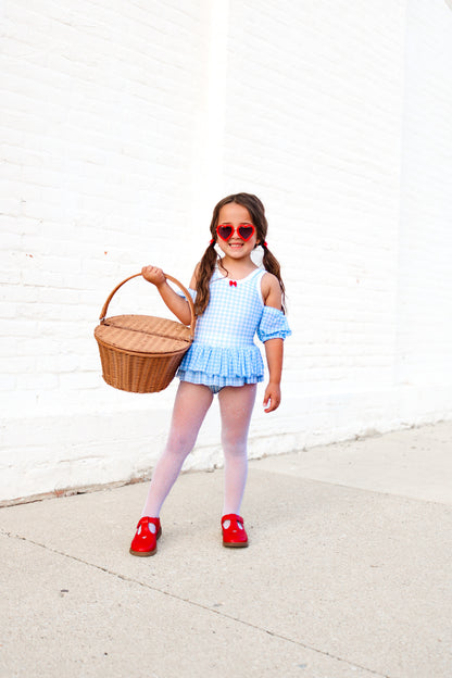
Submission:
[[[234,386],[230,384],[231,380],[240,384],[258,384],[264,378],[264,363],[261,351],[254,344],[241,348],[219,348],[194,341],[185,354],[177,374],[180,377],[188,373],[205,376],[206,381],[194,381],[194,384]],[[216,384],[212,381],[214,378],[219,378],[225,382]]]

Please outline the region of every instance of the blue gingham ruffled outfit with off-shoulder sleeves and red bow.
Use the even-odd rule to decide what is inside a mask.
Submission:
[[[256,268],[241,280],[231,280],[215,268],[209,304],[198,318],[193,342],[177,373],[181,381],[217,391],[263,380],[264,363],[254,335],[258,332],[262,342],[291,335],[282,311],[264,304],[264,269]],[[194,299],[196,291],[189,291]]]

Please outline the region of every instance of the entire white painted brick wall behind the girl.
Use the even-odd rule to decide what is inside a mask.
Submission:
[[[250,454],[452,413],[452,12],[442,0],[5,0],[0,500],[140,477],[175,385],[106,387],[92,331],[213,204],[262,197],[293,336]],[[134,280],[112,313],[165,313]],[[187,467],[221,463],[213,407]]]

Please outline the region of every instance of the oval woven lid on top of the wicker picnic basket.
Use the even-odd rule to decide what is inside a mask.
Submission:
[[[95,330],[96,339],[127,353],[163,355],[185,351],[190,329],[181,323],[151,315],[115,315]]]

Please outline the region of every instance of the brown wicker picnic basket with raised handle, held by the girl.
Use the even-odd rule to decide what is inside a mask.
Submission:
[[[188,290],[170,275],[190,304],[190,325],[150,315],[115,315],[105,317],[109,304],[120,287],[137,273],[117,285],[105,301],[96,327],[106,384],[133,393],[154,393],[173,380],[177,367],[191,346],[194,335],[194,306]]]

